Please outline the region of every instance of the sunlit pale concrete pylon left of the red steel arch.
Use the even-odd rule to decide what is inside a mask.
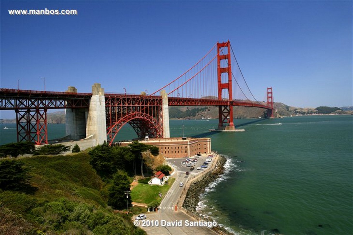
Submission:
[[[92,97],[89,102],[86,135],[94,134],[96,145],[107,141],[106,105],[104,89],[100,83],[92,85]]]

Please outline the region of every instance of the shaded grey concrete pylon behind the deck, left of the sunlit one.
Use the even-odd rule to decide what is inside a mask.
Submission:
[[[75,87],[68,87],[68,93],[77,93]],[[68,139],[79,140],[86,138],[86,121],[88,110],[86,108],[65,109],[65,129]]]

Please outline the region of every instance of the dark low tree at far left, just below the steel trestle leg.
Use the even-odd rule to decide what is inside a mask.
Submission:
[[[29,141],[10,143],[0,146],[0,156],[18,157],[18,155],[31,154],[35,150],[34,143]]]

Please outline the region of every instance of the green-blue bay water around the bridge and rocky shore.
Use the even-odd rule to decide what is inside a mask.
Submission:
[[[199,213],[236,234],[353,234],[353,116],[234,120],[246,131],[208,132],[217,120],[171,120],[172,136],[205,136],[228,160]],[[279,125],[281,123],[281,125]],[[0,125],[0,144],[16,141]],[[48,125],[60,138],[65,125]],[[136,138],[126,125],[117,140]]]

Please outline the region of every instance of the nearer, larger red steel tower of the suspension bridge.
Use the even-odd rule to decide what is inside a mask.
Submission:
[[[225,55],[220,55],[223,48],[227,48],[227,53]],[[221,50],[221,51],[220,51]],[[226,67],[221,67],[221,61],[224,60],[227,63]],[[226,74],[226,79],[228,81],[222,82],[222,74]],[[233,101],[232,96],[232,66],[231,66],[231,44],[228,42],[217,43],[217,82],[218,82],[218,99],[222,100],[222,90],[228,90],[228,105],[218,106],[218,129],[232,131],[235,130],[233,123],[233,106],[231,101]]]

